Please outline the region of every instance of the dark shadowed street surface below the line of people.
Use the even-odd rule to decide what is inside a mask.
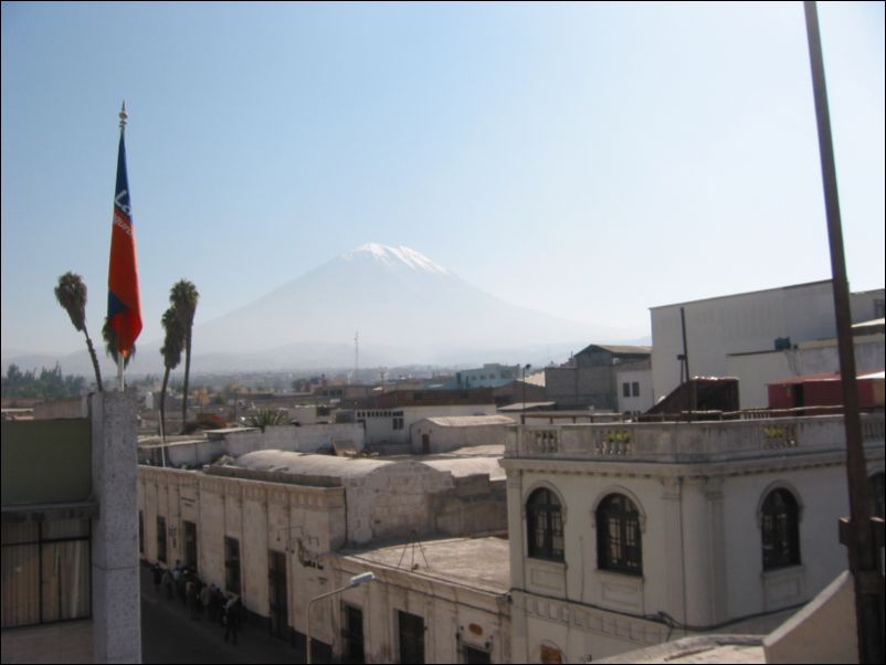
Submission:
[[[299,651],[268,634],[265,620],[244,613],[238,644],[231,644],[222,626],[191,619],[178,598],[155,591],[149,568],[141,566],[140,576],[143,663],[304,663]]]

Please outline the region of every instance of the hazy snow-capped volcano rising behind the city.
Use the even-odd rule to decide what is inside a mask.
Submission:
[[[619,341],[612,329],[496,298],[416,250],[369,243],[196,326],[192,371],[354,367],[358,331],[362,367],[531,362]],[[162,371],[160,344],[138,345],[131,371]],[[66,373],[91,372],[85,351],[62,360]]]

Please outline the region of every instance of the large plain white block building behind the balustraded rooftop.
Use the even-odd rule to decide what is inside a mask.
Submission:
[[[854,323],[880,318],[884,289],[852,294],[851,304]],[[833,339],[836,335],[830,281],[652,307],[655,401],[681,383],[681,360],[677,358],[684,350],[681,309],[686,323],[689,372],[698,377],[738,376],[742,408],[766,407],[764,401],[755,402],[759,402],[760,390],[764,394],[767,381],[809,372],[797,371],[779,377],[769,376],[769,372],[758,374],[756,372],[760,369],[773,368],[771,358],[763,358],[761,362],[742,361],[738,359],[741,355],[792,349],[800,342]],[[788,368],[790,362],[791,358],[787,357],[784,363]],[[882,365],[859,366],[859,369],[882,368]],[[837,369],[831,366],[815,371]]]

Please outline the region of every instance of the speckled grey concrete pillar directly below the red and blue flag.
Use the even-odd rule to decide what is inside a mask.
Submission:
[[[93,640],[96,663],[141,663],[136,393],[91,398]]]

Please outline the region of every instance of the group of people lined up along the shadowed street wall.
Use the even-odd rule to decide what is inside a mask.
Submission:
[[[207,616],[209,621],[218,622],[224,627],[225,642],[230,638],[236,644],[242,610],[239,595],[225,595],[215,584],[205,584],[194,570],[182,566],[181,561],[176,561],[172,569],[155,563],[151,566],[151,573],[157,593],[164,588],[170,600],[178,597],[190,611],[191,619]]]

